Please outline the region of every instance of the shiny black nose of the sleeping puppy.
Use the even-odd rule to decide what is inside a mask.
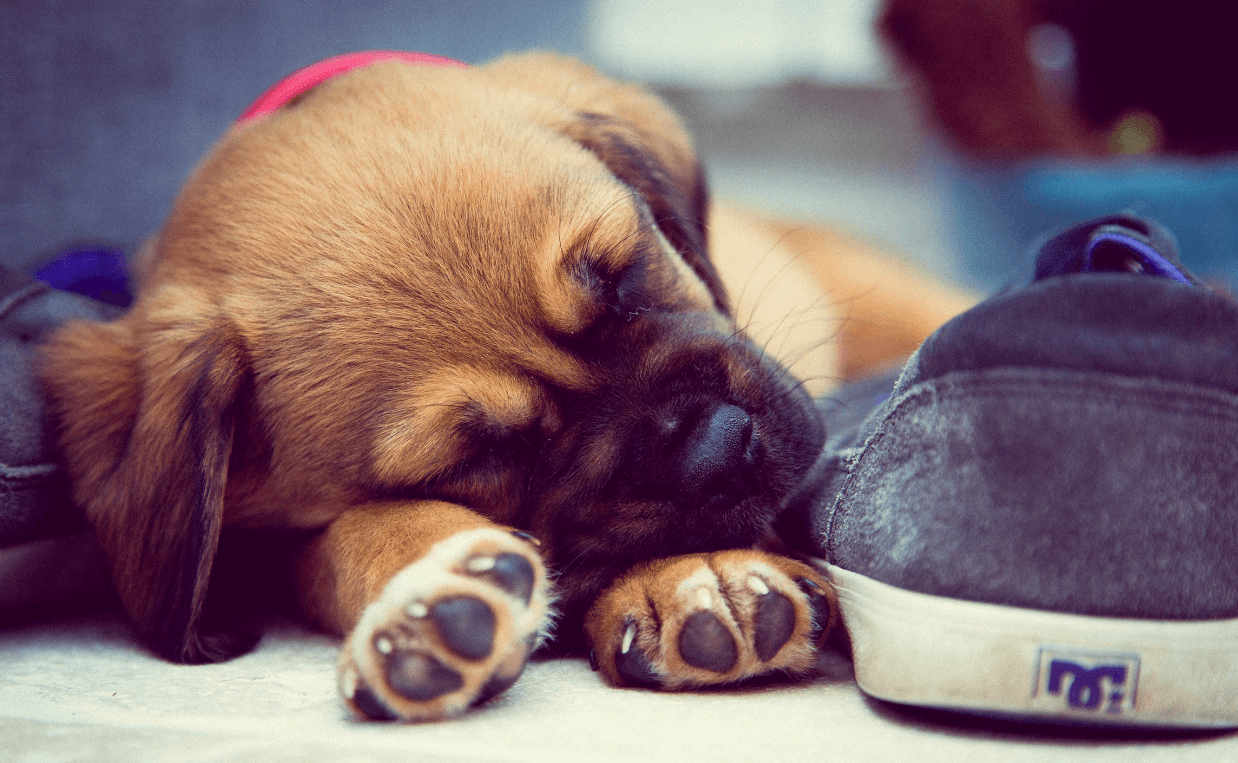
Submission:
[[[669,453],[675,493],[685,507],[703,505],[711,498],[742,498],[751,472],[753,420],[729,404],[701,411],[685,421],[686,436]]]

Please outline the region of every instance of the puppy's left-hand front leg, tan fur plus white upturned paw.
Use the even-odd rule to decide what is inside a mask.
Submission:
[[[339,691],[358,713],[427,721],[506,690],[546,630],[532,536],[441,502],[369,504],[297,560],[302,609],[347,634]]]

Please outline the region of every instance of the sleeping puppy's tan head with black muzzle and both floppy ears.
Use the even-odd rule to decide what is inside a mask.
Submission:
[[[688,137],[548,56],[383,63],[234,129],[121,321],[47,379],[121,598],[199,633],[219,528],[442,499],[539,535],[569,603],[631,562],[750,545],[820,446],[729,315]]]

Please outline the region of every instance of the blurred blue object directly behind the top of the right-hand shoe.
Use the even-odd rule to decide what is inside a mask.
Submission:
[[[1238,157],[1106,162],[938,162],[953,204],[958,258],[971,285],[992,291],[1026,274],[1046,233],[1130,212],[1174,230],[1182,264],[1238,285]]]

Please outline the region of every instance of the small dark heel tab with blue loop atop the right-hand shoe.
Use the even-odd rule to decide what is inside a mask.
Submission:
[[[1123,272],[1198,285],[1179,263],[1172,234],[1129,214],[1075,225],[1041,244],[1032,281],[1082,272]]]

